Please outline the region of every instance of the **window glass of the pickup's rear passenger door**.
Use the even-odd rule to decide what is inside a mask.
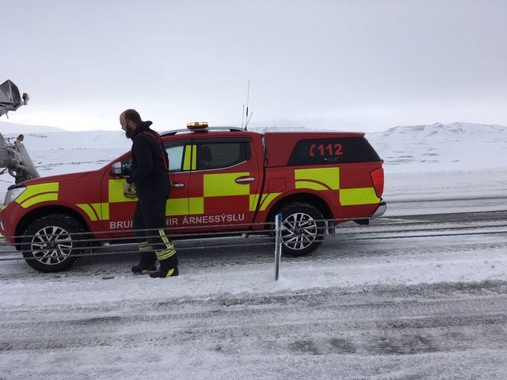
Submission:
[[[250,160],[250,140],[197,141],[196,170],[228,168]]]

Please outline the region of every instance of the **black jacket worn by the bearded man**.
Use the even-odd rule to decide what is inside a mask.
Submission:
[[[171,191],[159,134],[149,126],[151,121],[142,121],[132,135],[132,173],[127,183],[135,183],[139,200],[157,195],[168,197]]]

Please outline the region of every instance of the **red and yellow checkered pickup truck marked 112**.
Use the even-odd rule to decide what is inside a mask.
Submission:
[[[336,224],[385,212],[383,161],[362,133],[206,127],[161,134],[169,155],[169,234],[271,234],[282,252],[314,251]],[[98,170],[11,185],[0,233],[38,271],[62,271],[97,241],[132,237],[123,192],[130,152]]]

